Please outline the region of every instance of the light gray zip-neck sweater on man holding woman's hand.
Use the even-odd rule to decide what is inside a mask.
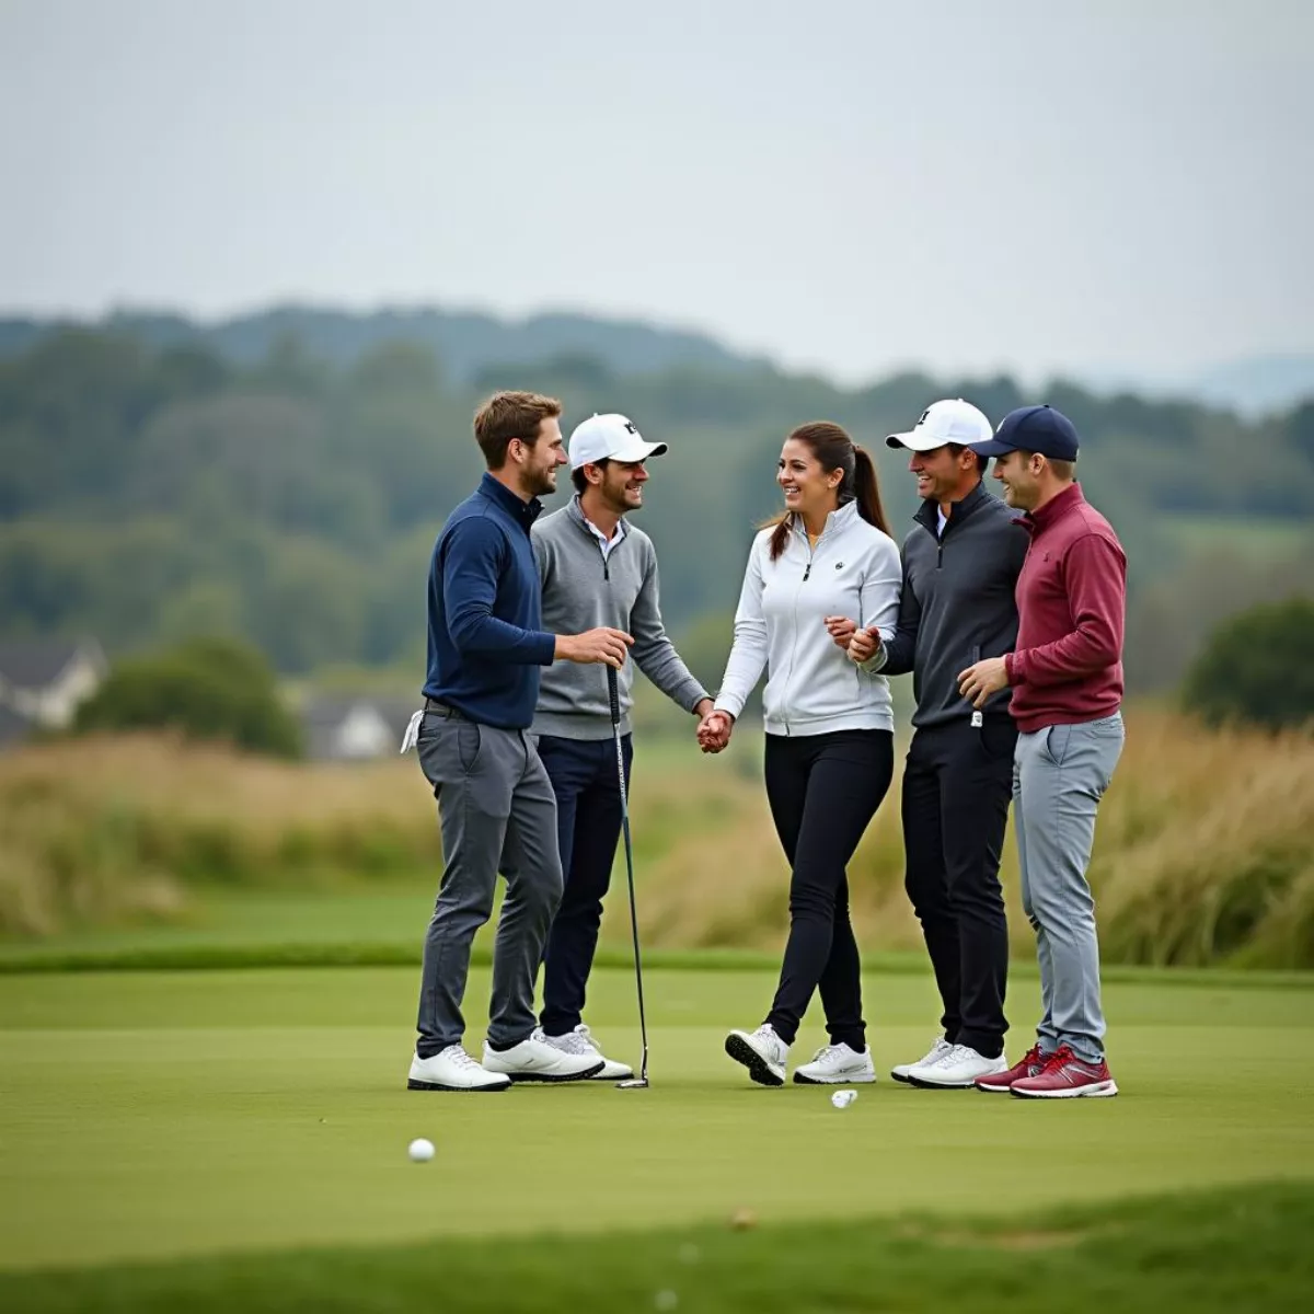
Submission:
[[[625,522],[624,537],[603,560],[579,510],[579,498],[533,524],[533,555],[543,581],[543,628],[553,635],[577,635],[595,625],[612,625],[633,635],[629,661],[618,673],[620,732],[629,733],[635,666],[668,698],[691,712],[707,691],[689,673],[666,637],[657,598],[657,552],[652,539]],[[607,668],[558,661],[543,669],[536,735],[597,740],[611,737]]]

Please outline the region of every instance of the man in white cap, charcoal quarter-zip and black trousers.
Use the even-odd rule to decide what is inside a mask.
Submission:
[[[999,863],[1017,729],[1008,690],[979,712],[958,692],[961,662],[1001,656],[1017,641],[1013,590],[1028,535],[986,491],[986,463],[967,448],[989,436],[975,406],[946,399],[907,434],[886,439],[909,452],[922,498],[904,539],[899,625],[880,668],[886,675],[911,670],[917,703],[903,777],[905,886],[943,1003],[943,1034],[892,1076],[921,1087],[967,1089],[1007,1067]],[[850,656],[879,662],[866,631],[854,636]]]

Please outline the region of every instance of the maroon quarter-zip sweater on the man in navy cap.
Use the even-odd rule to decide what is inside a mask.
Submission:
[[[1074,484],[1021,519],[1017,648],[1004,658],[1024,733],[1112,716],[1122,704],[1127,558]]]

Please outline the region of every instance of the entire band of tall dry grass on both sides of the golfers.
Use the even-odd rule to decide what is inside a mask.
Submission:
[[[1314,966],[1314,740],[1210,731],[1152,708],[1127,720],[1091,872],[1106,961]],[[787,871],[759,754],[750,736],[720,758],[683,741],[640,745],[633,832],[653,946],[779,947]],[[851,867],[865,950],[921,943],[895,791]],[[431,886],[439,863],[432,799],[409,758],[347,767],[170,740],[50,744],[0,759],[0,828],[9,936],[176,921],[201,886]],[[1004,880],[1014,949],[1029,957],[1010,841]],[[608,901],[608,942],[628,940],[627,917],[624,900]]]

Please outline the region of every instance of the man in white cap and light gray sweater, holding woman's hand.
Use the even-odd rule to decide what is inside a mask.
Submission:
[[[553,633],[614,625],[633,636],[632,661],[618,673],[625,782],[633,748],[629,710],[637,666],[668,698],[699,719],[712,710],[662,627],[657,553],[625,515],[644,503],[645,463],[665,443],[645,443],[624,415],[594,415],[570,435],[569,506],[533,526],[543,582],[543,627]],[[561,629],[560,627],[568,628]],[[585,988],[598,945],[602,897],[620,838],[620,782],[606,671],[545,666],[533,717],[539,756],[557,796],[557,836],[565,892],[544,959],[543,1038],[569,1054],[598,1054],[582,1018]],[[599,1080],[624,1080],[631,1068],[604,1059]]]

